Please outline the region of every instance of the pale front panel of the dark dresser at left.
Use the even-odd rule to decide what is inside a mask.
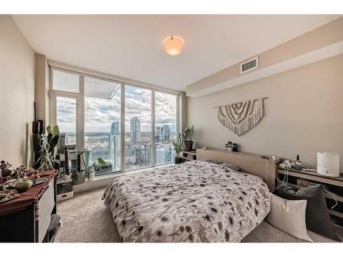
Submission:
[[[49,187],[38,200],[38,242],[42,242],[51,221],[51,212],[55,206],[54,180],[51,180]]]

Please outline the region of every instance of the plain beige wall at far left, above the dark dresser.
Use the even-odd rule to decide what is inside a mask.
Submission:
[[[9,15],[0,15],[0,160],[32,164],[34,51]]]

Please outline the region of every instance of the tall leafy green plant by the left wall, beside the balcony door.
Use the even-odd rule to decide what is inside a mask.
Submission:
[[[60,130],[58,129],[58,125],[47,126],[47,135],[40,134],[39,146],[40,151],[38,152],[39,157],[34,163],[39,164],[39,168],[42,171],[48,169],[54,169],[54,164],[60,164],[59,160],[56,160],[54,157],[54,149],[58,144],[58,140],[60,139]]]

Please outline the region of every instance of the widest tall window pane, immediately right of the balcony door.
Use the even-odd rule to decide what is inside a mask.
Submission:
[[[120,171],[120,84],[84,78],[84,147],[95,175]],[[106,164],[99,166],[97,158]]]

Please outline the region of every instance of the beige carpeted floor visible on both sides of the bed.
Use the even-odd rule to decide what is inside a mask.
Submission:
[[[58,202],[62,228],[56,235],[58,243],[108,243],[121,242],[110,210],[104,206],[102,193],[105,188],[75,194],[71,199]],[[308,232],[314,242],[334,242],[313,232]],[[341,233],[343,235],[343,231]],[[340,235],[340,236],[342,236]],[[343,238],[343,236],[342,236]],[[244,243],[296,243],[294,238],[270,223],[263,221],[243,241]]]

